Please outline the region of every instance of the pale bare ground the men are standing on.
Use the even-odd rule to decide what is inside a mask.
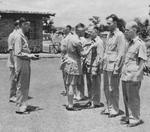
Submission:
[[[145,77],[140,90],[141,118],[144,124],[134,128],[120,125],[119,119],[100,115],[103,108],[66,111],[66,97],[59,59],[41,59],[31,63],[29,105],[39,107],[30,114],[17,115],[15,104],[8,102],[9,69],[0,60],[0,132],[149,132],[150,78]],[[105,103],[103,88],[101,102]],[[120,88],[120,109],[124,110]]]

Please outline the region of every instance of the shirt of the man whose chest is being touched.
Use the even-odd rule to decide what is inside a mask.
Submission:
[[[88,73],[98,74],[100,73],[100,64],[102,62],[104,48],[103,41],[100,37],[97,36],[94,43],[96,43],[97,46],[89,52],[85,59],[85,64],[87,66]]]

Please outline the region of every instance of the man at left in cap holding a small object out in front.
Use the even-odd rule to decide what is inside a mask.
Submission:
[[[14,41],[14,56],[15,56],[15,81],[17,83],[17,111],[16,113],[23,114],[27,110],[28,93],[30,85],[30,59],[36,59],[34,54],[30,53],[28,47],[28,39],[25,34],[30,29],[30,22],[25,18],[20,18],[20,29],[16,33]]]

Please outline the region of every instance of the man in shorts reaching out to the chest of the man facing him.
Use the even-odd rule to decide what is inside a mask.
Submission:
[[[84,32],[85,26],[80,23],[75,27],[76,34],[72,35],[67,42],[67,47],[61,49],[66,52],[65,68],[67,73],[66,85],[68,89],[68,105],[67,110],[77,110],[78,108],[73,105],[74,90],[81,84],[82,67],[81,56],[86,56],[90,50],[95,46],[91,45],[86,51],[83,51],[80,36]],[[66,51],[65,51],[66,50]]]

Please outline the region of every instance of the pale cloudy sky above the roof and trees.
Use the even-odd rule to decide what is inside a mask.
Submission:
[[[0,10],[56,13],[55,26],[89,24],[92,16],[99,16],[103,22],[112,13],[126,21],[150,18],[148,5],[150,0],[0,0]]]

